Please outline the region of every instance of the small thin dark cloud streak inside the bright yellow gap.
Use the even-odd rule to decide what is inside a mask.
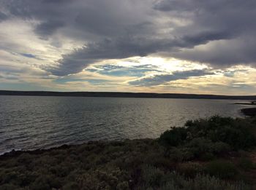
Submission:
[[[148,87],[165,84],[166,82],[176,81],[180,79],[189,79],[192,76],[206,76],[211,74],[214,73],[206,70],[176,71],[173,72],[173,74],[159,74],[152,77],[138,79],[129,82],[129,84]]]

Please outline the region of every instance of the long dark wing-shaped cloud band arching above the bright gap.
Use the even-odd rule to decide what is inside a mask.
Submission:
[[[173,50],[177,47],[195,47],[197,44],[206,44],[208,41],[223,39],[226,33],[203,32],[199,36],[183,36],[180,39],[157,39],[123,36],[116,39],[105,39],[97,43],[87,44],[70,55],[64,55],[59,60],[60,66],[48,71],[57,76],[75,74],[86,66],[105,59],[122,59],[134,56],[146,56],[152,53]],[[175,52],[175,51],[174,51]]]

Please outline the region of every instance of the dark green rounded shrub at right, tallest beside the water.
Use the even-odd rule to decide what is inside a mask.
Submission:
[[[247,149],[255,146],[256,139],[252,134],[253,124],[246,119],[211,116],[209,119],[197,119],[185,124],[193,138],[207,138],[213,142],[227,143],[231,148]]]

